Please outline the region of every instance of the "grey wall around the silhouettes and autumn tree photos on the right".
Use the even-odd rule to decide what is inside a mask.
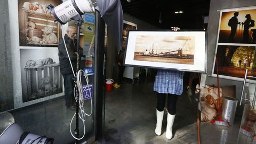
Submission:
[[[205,84],[207,85],[217,85],[217,77],[211,76],[212,68],[214,65],[214,57],[215,57],[215,50],[216,50],[216,43],[217,43],[217,35],[218,35],[218,27],[219,27],[219,17],[220,11],[224,9],[234,9],[238,7],[248,7],[248,6],[255,6],[256,1],[254,0],[214,0],[211,1],[210,4],[210,13],[209,13],[209,22],[208,22],[208,31],[207,31],[207,75],[205,75]],[[255,18],[254,18],[255,19]],[[242,93],[242,81],[235,81],[227,78],[220,78],[219,79],[220,86],[229,86],[235,85],[236,86],[236,99],[241,98]],[[239,103],[239,102],[238,102]],[[243,106],[237,107],[237,114],[241,115],[243,113]]]

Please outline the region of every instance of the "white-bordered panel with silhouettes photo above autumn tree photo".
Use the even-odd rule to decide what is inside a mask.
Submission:
[[[243,81],[245,70],[252,69],[256,48],[256,6],[220,10],[216,44],[219,76]],[[255,71],[255,70],[254,70]],[[216,58],[212,76],[217,76]]]

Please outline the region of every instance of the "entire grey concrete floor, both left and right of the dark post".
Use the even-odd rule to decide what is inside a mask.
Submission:
[[[178,99],[177,114],[173,124],[173,139],[165,138],[166,114],[162,135],[155,134],[156,93],[153,91],[154,75],[140,76],[132,84],[131,79],[118,89],[106,92],[105,133],[100,143],[198,143],[195,95],[184,89]],[[88,101],[89,102],[89,101]],[[63,98],[11,111],[25,131],[54,138],[54,143],[74,143],[69,133],[69,123],[74,111],[66,109]],[[86,135],[91,134],[91,117],[86,120]],[[201,123],[201,143],[254,143],[239,133],[241,117],[236,117],[231,127]],[[82,124],[80,125],[83,134]]]

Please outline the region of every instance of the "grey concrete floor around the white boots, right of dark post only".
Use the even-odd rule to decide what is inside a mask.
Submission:
[[[184,89],[177,103],[174,137],[167,140],[166,114],[162,135],[155,134],[154,78],[140,77],[134,84],[131,84],[131,79],[125,81],[118,89],[106,93],[105,137],[95,143],[198,143],[195,94]],[[237,143],[240,121],[241,118],[236,117],[231,127],[201,123],[201,143]]]

